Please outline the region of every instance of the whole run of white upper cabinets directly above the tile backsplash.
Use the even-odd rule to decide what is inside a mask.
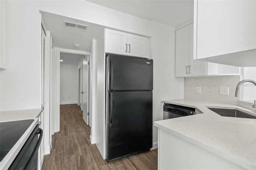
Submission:
[[[193,23],[176,30],[175,76],[239,75],[239,67],[193,59]]]

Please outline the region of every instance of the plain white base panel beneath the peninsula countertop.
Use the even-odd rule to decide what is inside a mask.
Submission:
[[[158,128],[159,170],[244,170],[204,148]]]

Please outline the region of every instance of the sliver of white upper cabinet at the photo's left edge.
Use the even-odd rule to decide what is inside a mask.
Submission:
[[[7,69],[7,58],[5,54],[5,0],[0,0],[0,69]]]

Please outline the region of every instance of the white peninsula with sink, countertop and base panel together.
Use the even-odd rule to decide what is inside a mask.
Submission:
[[[207,107],[255,112],[186,99],[162,102],[193,107],[202,114],[154,122],[158,169],[256,169],[256,119],[222,117]]]

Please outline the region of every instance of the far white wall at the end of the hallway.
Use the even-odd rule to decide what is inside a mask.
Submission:
[[[76,104],[78,96],[78,70],[74,64],[60,64],[60,104]]]

